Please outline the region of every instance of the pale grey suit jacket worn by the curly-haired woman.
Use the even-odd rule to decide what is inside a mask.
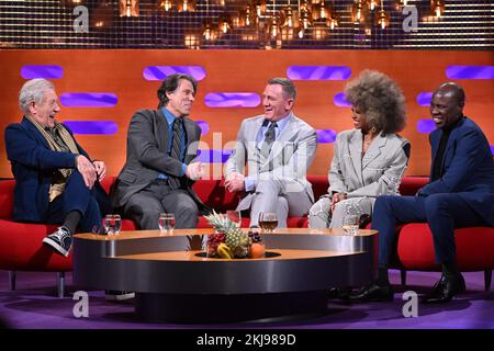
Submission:
[[[362,158],[360,129],[336,137],[328,193],[347,197],[397,195],[409,157],[409,143],[396,134],[378,135]]]

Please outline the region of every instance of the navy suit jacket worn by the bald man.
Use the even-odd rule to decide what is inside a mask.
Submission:
[[[440,128],[429,135],[433,160],[436,158],[441,136]],[[442,177],[424,185],[417,195],[427,196],[437,193],[458,193],[479,215],[494,226],[493,156],[484,133],[468,117],[463,117],[449,135],[442,160]]]

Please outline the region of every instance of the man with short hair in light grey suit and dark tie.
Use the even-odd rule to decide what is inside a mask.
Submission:
[[[289,215],[307,214],[314,202],[306,171],[315,157],[317,134],[292,113],[295,95],[291,80],[270,79],[262,94],[265,114],[243,121],[226,162],[226,190],[245,191],[237,211],[250,208],[251,227],[258,225],[260,213],[274,212],[278,227],[285,228]]]

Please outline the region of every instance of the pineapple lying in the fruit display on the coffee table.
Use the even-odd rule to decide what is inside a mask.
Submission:
[[[214,210],[213,214],[204,216],[204,218],[206,218],[216,231],[225,234],[225,244],[234,252],[235,257],[243,258],[248,254],[249,236],[242,231],[237,223],[217,214]]]

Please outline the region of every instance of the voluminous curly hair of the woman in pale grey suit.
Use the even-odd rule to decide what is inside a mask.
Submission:
[[[363,70],[345,88],[345,98],[366,115],[377,133],[398,133],[405,127],[405,97],[390,77]]]

